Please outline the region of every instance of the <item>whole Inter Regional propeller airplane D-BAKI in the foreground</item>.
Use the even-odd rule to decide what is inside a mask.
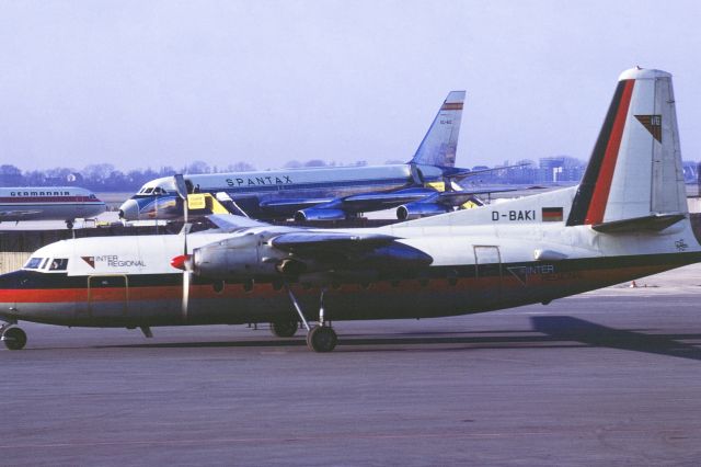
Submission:
[[[214,220],[219,231],[39,249],[0,276],[5,345],[24,346],[20,320],[147,337],[152,326],[246,322],[292,335],[301,321],[310,349],[329,352],[332,320],[548,304],[701,261],[671,76],[646,69],[621,75],[578,186],[376,229]]]

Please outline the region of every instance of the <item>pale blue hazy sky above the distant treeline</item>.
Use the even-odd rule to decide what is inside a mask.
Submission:
[[[635,65],[675,76],[699,160],[700,4],[0,0],[0,162],[407,160],[453,89],[459,166],[587,159]]]

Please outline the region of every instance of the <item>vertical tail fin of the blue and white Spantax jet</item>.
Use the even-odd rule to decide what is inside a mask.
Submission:
[[[451,91],[440,106],[411,163],[455,167],[464,91]]]

